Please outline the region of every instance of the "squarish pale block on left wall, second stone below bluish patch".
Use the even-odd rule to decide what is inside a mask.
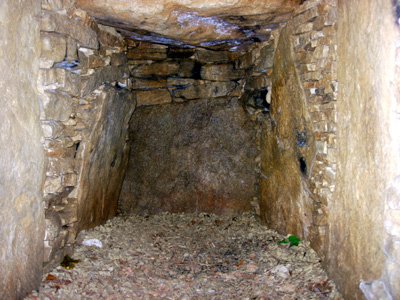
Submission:
[[[73,111],[71,96],[59,90],[47,90],[40,95],[40,119],[67,121]]]

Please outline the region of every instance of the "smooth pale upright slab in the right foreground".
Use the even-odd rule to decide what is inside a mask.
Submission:
[[[391,123],[396,118],[391,85],[396,78],[398,28],[387,1],[339,1],[338,16],[338,178],[328,271],[345,297],[364,299],[358,288],[361,280],[382,276],[385,240],[389,241],[383,203],[399,171],[398,148],[392,147],[399,126]],[[392,299],[400,297],[398,281],[392,285],[389,277],[386,287]],[[373,293],[369,296],[374,299]]]

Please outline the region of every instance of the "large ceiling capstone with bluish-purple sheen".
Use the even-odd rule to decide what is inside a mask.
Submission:
[[[240,51],[265,41],[302,0],[77,0],[135,40]]]

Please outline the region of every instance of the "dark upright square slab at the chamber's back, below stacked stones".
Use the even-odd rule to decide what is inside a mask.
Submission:
[[[238,212],[254,196],[254,124],[236,99],[139,107],[121,208]]]

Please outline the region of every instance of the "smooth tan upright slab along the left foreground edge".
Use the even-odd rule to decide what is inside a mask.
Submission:
[[[0,5],[0,299],[22,299],[42,278],[44,175],[35,80],[40,0]],[[18,39],[16,39],[18,37]]]

